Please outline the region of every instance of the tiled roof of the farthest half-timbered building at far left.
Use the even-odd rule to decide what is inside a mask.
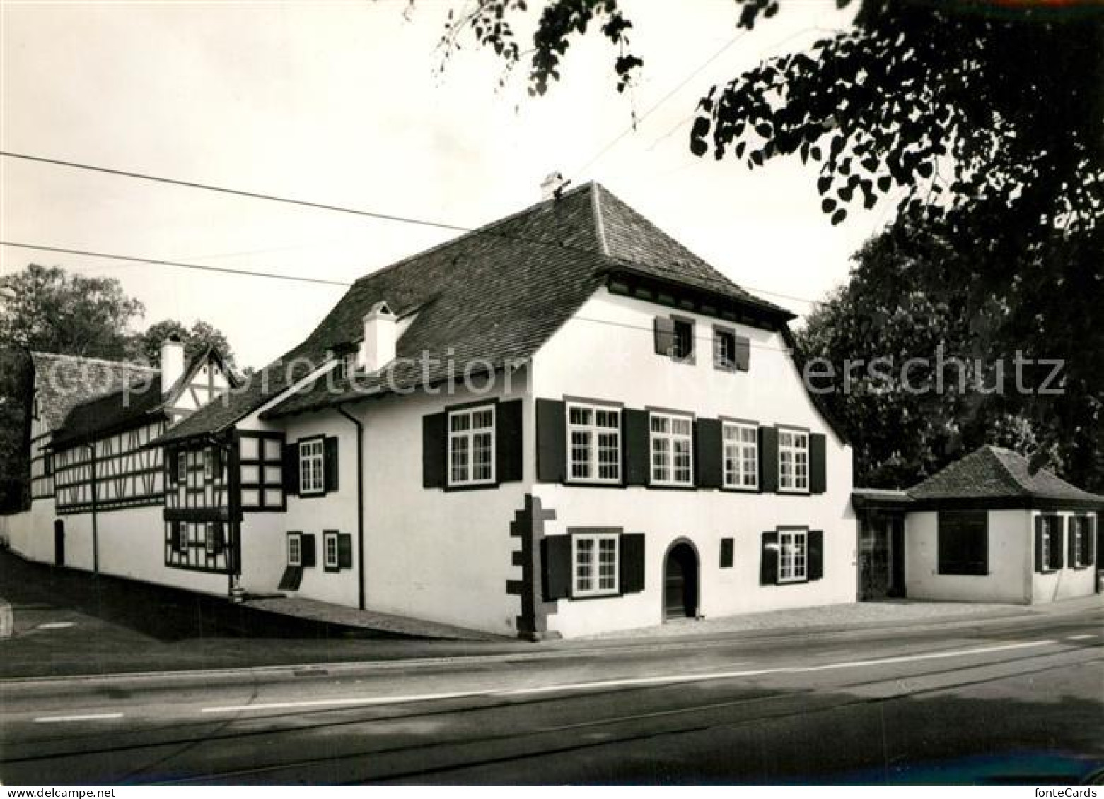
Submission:
[[[77,404],[136,381],[149,381],[158,370],[149,366],[76,355],[31,353],[38,376],[39,403],[51,430],[57,430]]]

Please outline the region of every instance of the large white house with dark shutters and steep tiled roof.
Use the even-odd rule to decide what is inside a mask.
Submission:
[[[851,451],[792,318],[581,186],[166,420],[162,496],[100,515],[99,568],[530,638],[853,602]],[[12,539],[40,560],[43,501]]]

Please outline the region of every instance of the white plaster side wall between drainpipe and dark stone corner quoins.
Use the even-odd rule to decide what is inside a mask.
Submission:
[[[422,487],[422,418],[447,406],[495,397],[522,399],[526,481],[497,489]],[[365,424],[365,571],[368,606],[510,635],[520,600],[506,593],[521,577],[511,565],[520,542],[510,537],[533,475],[532,402],[526,371],[501,375],[493,390],[453,396],[425,393],[354,406]],[[351,434],[352,424],[346,422]],[[342,474],[342,486],[346,474]],[[351,479],[351,477],[350,477]]]

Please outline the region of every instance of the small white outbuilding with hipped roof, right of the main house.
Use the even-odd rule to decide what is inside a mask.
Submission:
[[[856,489],[859,596],[1036,604],[1097,591],[1104,496],[983,446],[903,492]]]

